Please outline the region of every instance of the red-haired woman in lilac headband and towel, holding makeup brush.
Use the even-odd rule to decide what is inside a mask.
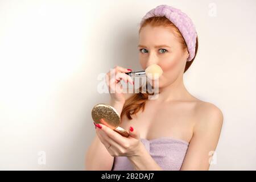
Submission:
[[[88,170],[208,170],[220,137],[223,115],[217,106],[192,96],[183,73],[195,60],[197,34],[190,18],[167,5],[157,6],[141,21],[139,58],[143,69],[163,69],[157,99],[147,93],[126,98],[111,93],[111,105],[121,113],[128,138],[97,124],[96,137],[86,152]],[[119,80],[133,83],[115,67],[109,88],[122,90]],[[110,76],[110,72],[107,74]],[[95,125],[95,123],[94,123]]]

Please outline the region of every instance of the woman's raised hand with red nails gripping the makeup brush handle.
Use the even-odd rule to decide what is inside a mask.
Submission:
[[[129,72],[131,72],[131,69],[115,66],[114,69],[110,69],[110,71],[106,73],[105,80],[109,88],[112,103],[125,103],[121,80],[126,83],[129,81],[133,85],[133,78],[125,74]]]

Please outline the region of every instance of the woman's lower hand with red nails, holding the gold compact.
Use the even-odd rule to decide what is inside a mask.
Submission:
[[[138,155],[142,148],[142,143],[138,131],[133,127],[129,128],[129,137],[123,137],[108,126],[96,125],[96,134],[104,144],[109,154],[112,156],[133,156]]]

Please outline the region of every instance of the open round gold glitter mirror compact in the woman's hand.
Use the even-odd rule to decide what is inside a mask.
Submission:
[[[92,118],[96,124],[101,123],[110,127],[110,129],[113,129],[123,137],[129,137],[129,133],[122,127],[119,127],[121,118],[113,106],[107,104],[95,105],[92,109]]]

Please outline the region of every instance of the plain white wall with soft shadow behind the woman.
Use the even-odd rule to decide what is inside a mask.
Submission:
[[[141,68],[139,22],[160,4],[195,23],[199,52],[185,85],[224,113],[210,169],[256,169],[254,0],[0,1],[0,169],[84,169],[90,111],[109,99],[97,76]]]

